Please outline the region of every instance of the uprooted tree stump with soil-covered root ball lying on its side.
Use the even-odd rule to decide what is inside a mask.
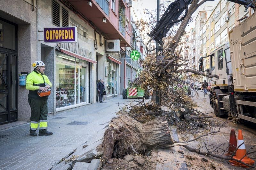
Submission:
[[[165,117],[141,124],[127,115],[121,115],[113,118],[105,131],[103,158],[122,159],[127,154],[143,154],[148,149],[168,147],[172,144]]]

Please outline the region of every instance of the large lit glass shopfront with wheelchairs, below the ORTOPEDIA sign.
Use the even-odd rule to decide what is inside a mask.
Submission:
[[[89,102],[88,62],[65,54],[56,57],[56,108]]]

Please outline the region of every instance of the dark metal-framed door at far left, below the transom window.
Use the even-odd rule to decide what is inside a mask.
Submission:
[[[18,120],[17,55],[0,51],[0,124]]]

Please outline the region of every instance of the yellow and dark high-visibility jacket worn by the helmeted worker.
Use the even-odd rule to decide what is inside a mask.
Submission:
[[[48,79],[48,77],[44,74],[41,74],[37,72],[36,70],[32,71],[30,74],[28,74],[26,78],[26,89],[29,90],[28,92],[28,98],[34,98],[39,100],[47,100],[48,96],[39,97],[37,95],[37,90],[39,87],[44,87],[46,85],[50,85],[52,87],[51,81]]]

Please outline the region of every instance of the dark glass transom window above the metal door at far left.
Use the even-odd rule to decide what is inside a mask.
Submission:
[[[16,50],[15,25],[11,25],[2,20],[0,20],[0,47]]]

